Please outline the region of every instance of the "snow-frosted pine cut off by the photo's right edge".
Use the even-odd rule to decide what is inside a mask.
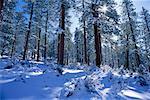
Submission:
[[[145,47],[144,50],[141,49],[141,53],[143,54],[142,62],[144,62],[143,65],[146,69],[149,68],[150,71],[150,14],[144,7],[142,7],[141,19],[141,27],[139,28],[143,41],[141,48]]]

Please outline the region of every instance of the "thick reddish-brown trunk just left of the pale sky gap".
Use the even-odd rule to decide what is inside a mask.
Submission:
[[[60,34],[60,38],[58,38],[58,64],[63,65],[64,61],[64,31],[65,31],[65,5],[61,4],[61,20],[60,27],[63,29],[63,32]]]

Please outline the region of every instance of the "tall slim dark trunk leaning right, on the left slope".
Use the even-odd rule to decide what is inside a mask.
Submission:
[[[32,21],[32,16],[33,16],[33,6],[34,6],[34,3],[32,3],[28,30],[27,30],[27,34],[26,34],[26,37],[25,37],[25,46],[24,46],[24,52],[23,52],[23,60],[26,59],[26,56],[27,56],[27,53],[28,53],[28,43],[29,43],[29,37],[30,37],[30,31],[31,31],[31,21]]]

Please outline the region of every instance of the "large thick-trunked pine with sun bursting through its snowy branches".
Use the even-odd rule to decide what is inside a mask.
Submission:
[[[93,15],[93,27],[95,37],[95,50],[96,50],[96,65],[102,64],[102,33],[115,32],[115,23],[118,21],[118,14],[115,10],[113,0],[108,1],[93,1],[91,4]],[[109,23],[109,24],[108,24]],[[110,34],[110,35],[111,35]]]

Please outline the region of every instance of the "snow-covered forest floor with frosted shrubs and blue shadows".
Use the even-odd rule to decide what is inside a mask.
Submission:
[[[150,83],[140,75],[109,68],[0,59],[0,100],[150,100]],[[108,67],[108,66],[104,66]]]

